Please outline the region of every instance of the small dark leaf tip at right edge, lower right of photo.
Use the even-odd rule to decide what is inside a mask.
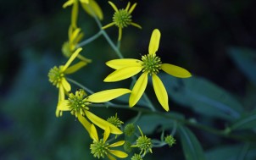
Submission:
[[[256,110],[248,115],[242,116],[241,119],[231,125],[231,130],[247,130],[256,128]]]

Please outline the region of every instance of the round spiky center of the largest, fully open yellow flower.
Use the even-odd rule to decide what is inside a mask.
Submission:
[[[147,72],[150,75],[159,73],[162,62],[161,58],[156,56],[156,54],[147,54],[142,56],[142,62],[143,72]]]

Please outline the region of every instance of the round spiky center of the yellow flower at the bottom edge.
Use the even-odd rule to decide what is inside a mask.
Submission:
[[[90,146],[91,153],[93,154],[93,157],[105,157],[105,155],[108,154],[108,148],[109,143],[105,143],[103,139],[100,139],[99,141],[93,141],[93,143]]]

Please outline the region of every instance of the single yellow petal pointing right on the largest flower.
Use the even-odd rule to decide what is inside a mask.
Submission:
[[[188,78],[192,76],[192,74],[186,69],[170,63],[162,63],[161,69],[163,69],[167,74],[171,74],[178,78]]]

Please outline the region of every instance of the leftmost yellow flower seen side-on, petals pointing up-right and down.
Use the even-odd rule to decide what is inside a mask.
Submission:
[[[48,73],[49,81],[53,83],[53,86],[58,88],[58,102],[64,100],[65,92],[71,90],[70,83],[65,79],[66,74],[75,73],[78,69],[85,66],[85,62],[75,63],[70,66],[70,64],[74,61],[74,59],[78,56],[79,52],[81,52],[82,48],[78,48],[70,57],[70,59],[64,65],[60,65],[58,67],[54,66],[53,69],[50,69]],[[62,112],[56,109],[56,116],[59,117],[62,115]]]

